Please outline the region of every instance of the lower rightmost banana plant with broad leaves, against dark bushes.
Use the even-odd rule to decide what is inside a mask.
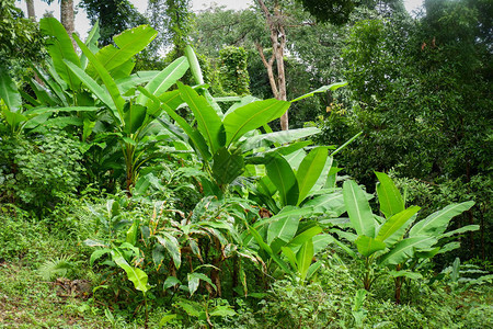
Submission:
[[[380,212],[383,217],[371,212],[365,192],[354,181],[343,185],[344,203],[351,226],[356,235],[346,235],[353,240],[365,261],[363,285],[369,291],[377,279],[375,268],[390,268],[395,277],[395,297],[400,299],[403,277],[416,279],[419,273],[411,270],[421,259],[450,250],[450,246],[439,246],[439,241],[455,234],[478,229],[477,225],[445,232],[450,219],[474,203],[472,201],[451,204],[426,218],[415,223],[419,206],[405,207],[402,195],[392,180],[382,172],[376,172]],[[443,250],[442,250],[443,249]]]

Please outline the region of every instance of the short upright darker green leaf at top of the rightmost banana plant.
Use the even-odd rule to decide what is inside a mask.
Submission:
[[[383,172],[375,172],[380,183],[377,184],[380,212],[390,218],[404,209],[404,201],[393,181]]]

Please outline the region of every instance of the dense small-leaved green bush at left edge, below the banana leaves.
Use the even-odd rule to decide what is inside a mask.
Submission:
[[[83,181],[79,143],[61,132],[7,138],[0,145],[0,196],[43,213],[73,196]]]

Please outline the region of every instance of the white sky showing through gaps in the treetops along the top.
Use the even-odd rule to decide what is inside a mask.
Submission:
[[[76,31],[81,35],[82,39],[87,36],[88,31],[91,26],[88,18],[85,16],[85,11],[82,9],[78,8],[80,0],[74,0],[73,1],[73,5],[76,8],[76,10],[78,10],[77,14],[76,14]],[[134,3],[134,5],[138,9],[138,11],[140,12],[145,12],[147,9],[147,2],[148,0],[130,0],[131,3]],[[240,9],[246,9],[250,4],[252,4],[253,0],[192,0],[192,9],[194,11],[199,11],[202,9],[205,9],[207,7],[209,7],[210,3],[217,3],[219,5],[226,5],[227,9],[234,9],[234,10],[240,10]],[[405,9],[408,10],[408,12],[412,12],[415,9],[417,9],[420,5],[422,5],[423,0],[404,0],[404,5]],[[27,15],[26,13],[26,4],[25,4],[25,0],[18,0],[16,1],[16,7],[21,8],[25,15]],[[59,1],[53,1],[50,5],[48,5],[46,2],[42,1],[42,0],[34,0],[34,8],[36,11],[36,19],[39,20],[43,14],[46,11],[51,11],[53,15],[56,19],[60,19],[60,5],[59,5]]]

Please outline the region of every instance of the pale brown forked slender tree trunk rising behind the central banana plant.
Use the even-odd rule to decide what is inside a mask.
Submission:
[[[279,9],[278,1],[274,3],[274,16],[271,11],[265,5],[263,0],[255,0],[256,3],[262,9],[264,13],[265,21],[267,23],[268,30],[271,31],[271,42],[272,42],[272,57],[267,61],[260,44],[256,44],[256,48],[262,58],[262,63],[267,69],[268,82],[271,83],[272,92],[274,97],[279,101],[286,101],[286,75],[284,70],[284,49],[286,47],[286,33],[284,30],[283,16]],[[274,60],[277,65],[277,79],[274,77]],[[280,128],[283,131],[289,129],[288,112],[280,117]]]

